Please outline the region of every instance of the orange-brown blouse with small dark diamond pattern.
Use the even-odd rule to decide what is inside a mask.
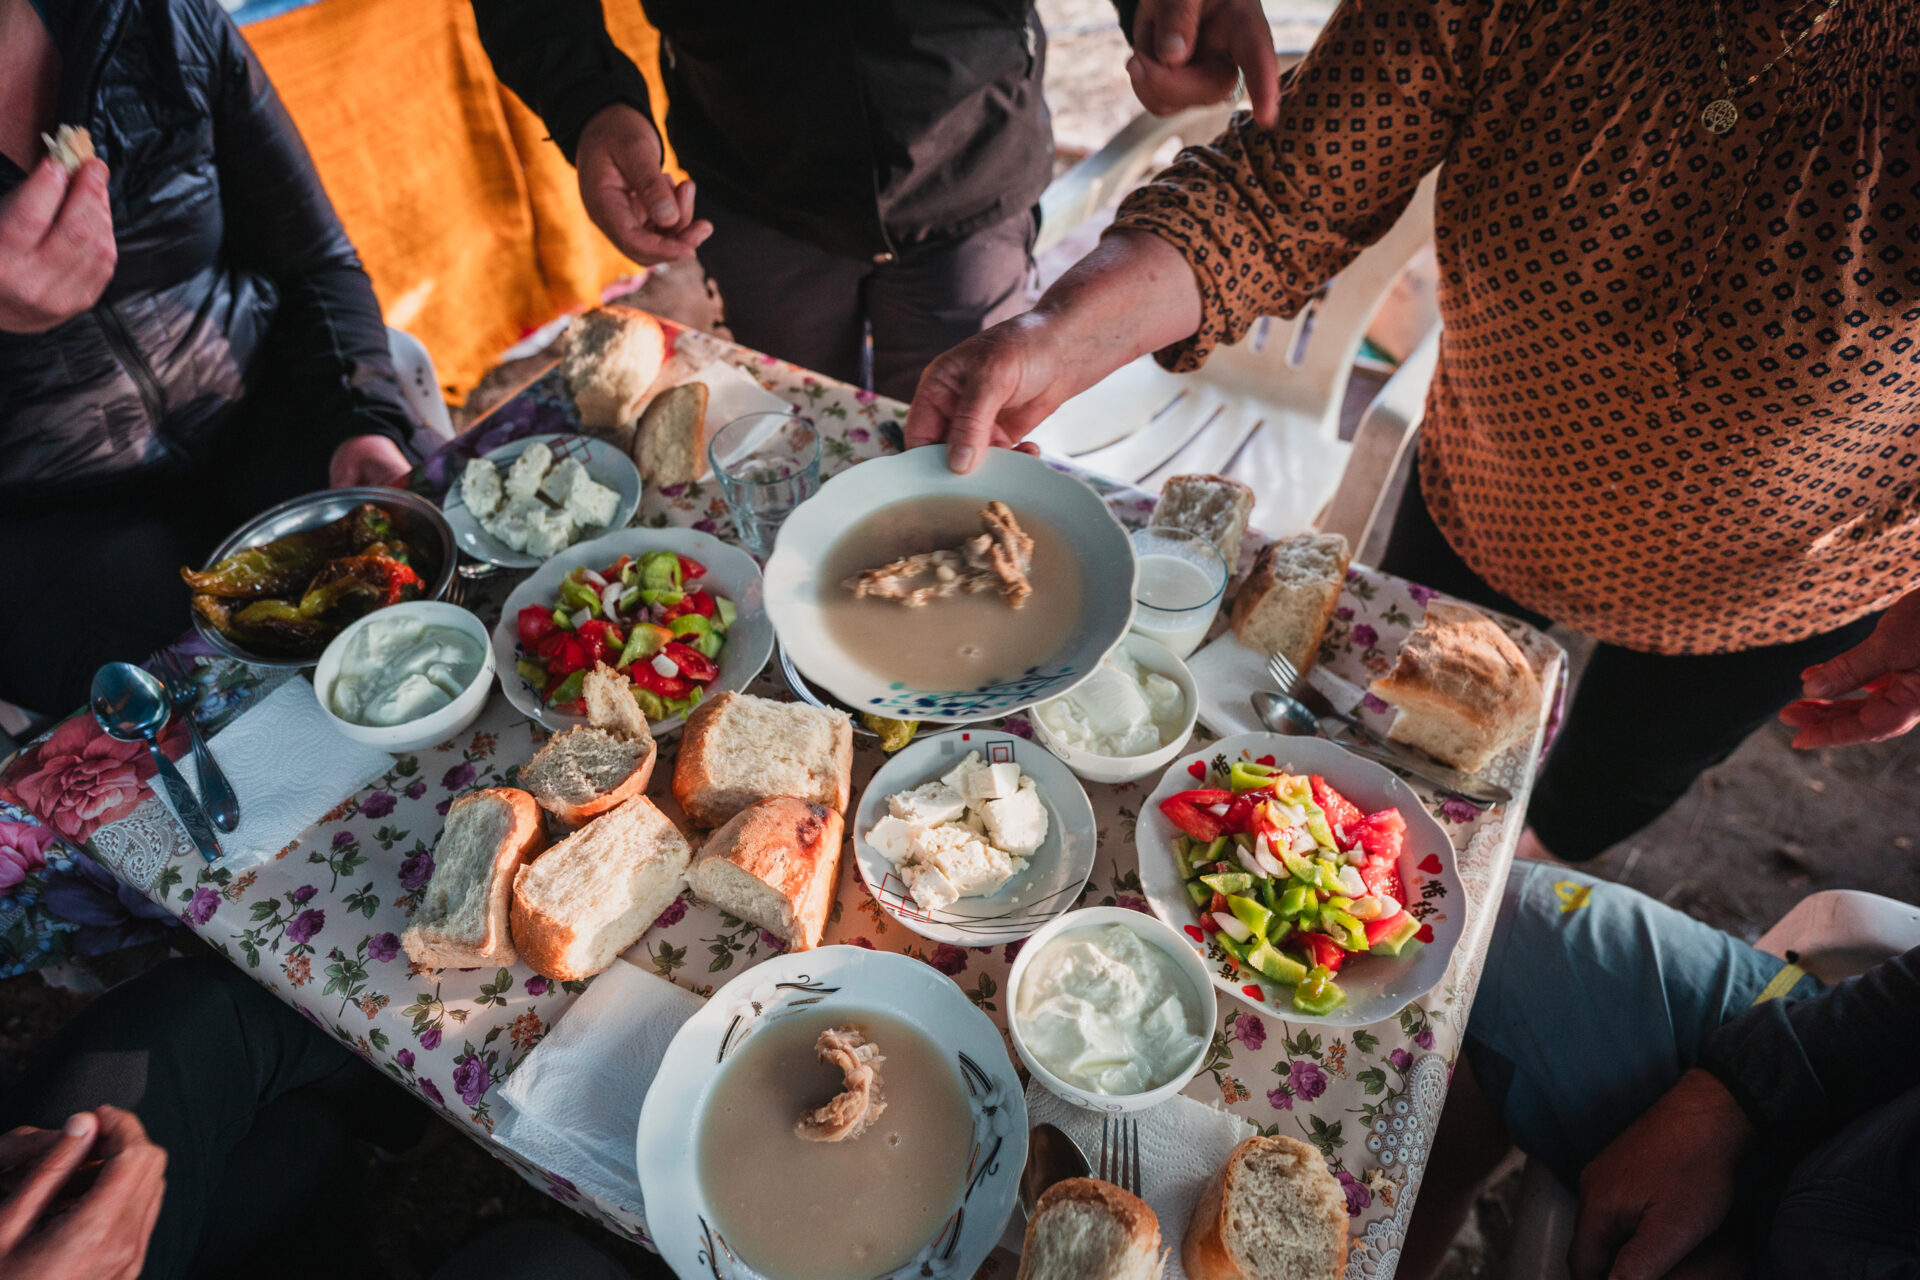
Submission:
[[[1826,0],[1720,0],[1738,86]],[[1292,315],[1440,167],[1446,330],[1421,482],[1500,591],[1724,652],[1920,585],[1920,4],[1839,0],[1726,98],[1713,0],[1346,0],[1283,81],[1135,192],[1198,367]]]

